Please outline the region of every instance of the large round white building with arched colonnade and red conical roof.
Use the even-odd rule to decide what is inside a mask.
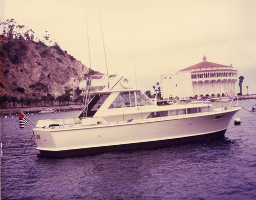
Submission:
[[[203,61],[189,66],[175,74],[161,75],[161,96],[163,99],[187,99],[191,97],[225,97],[236,94],[237,70],[232,64],[226,66]]]

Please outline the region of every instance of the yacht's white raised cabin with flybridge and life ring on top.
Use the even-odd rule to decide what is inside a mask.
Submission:
[[[106,113],[114,114],[113,108],[156,106],[140,90],[137,90],[129,78],[120,75],[111,75],[108,79],[106,76],[91,77],[89,80],[87,77],[82,78],[79,88],[83,91],[84,99],[84,108],[79,118],[102,116]]]

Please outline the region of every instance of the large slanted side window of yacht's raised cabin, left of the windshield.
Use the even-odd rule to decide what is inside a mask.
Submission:
[[[116,99],[110,105],[109,109],[133,106],[135,106],[134,92],[123,92],[116,97]]]

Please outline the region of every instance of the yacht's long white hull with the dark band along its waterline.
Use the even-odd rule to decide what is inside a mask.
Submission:
[[[53,129],[38,127],[33,131],[37,149],[41,154],[61,157],[107,151],[120,145],[125,145],[125,149],[133,149],[135,144],[143,144],[145,148],[145,143],[152,145],[159,141],[175,140],[178,144],[179,140],[185,138],[205,137],[212,133],[219,133],[214,137],[223,137],[230,120],[239,109],[240,107],[236,107],[208,114],[170,116],[107,125],[79,124]],[[102,147],[108,148],[102,150]],[[95,150],[97,148],[100,150]],[[136,146],[138,148],[140,145]],[[82,153],[79,153],[79,149]]]

